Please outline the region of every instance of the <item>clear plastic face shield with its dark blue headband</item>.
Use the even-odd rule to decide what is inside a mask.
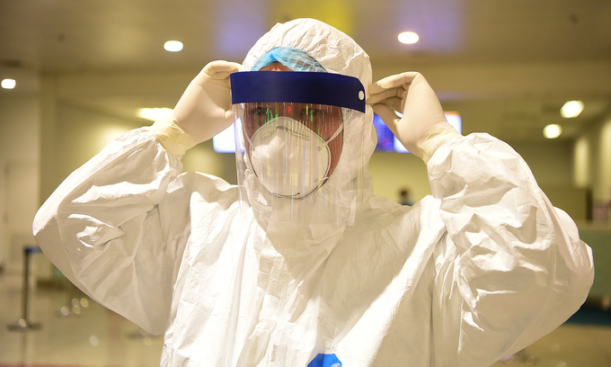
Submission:
[[[231,85],[241,201],[266,221],[338,224],[354,205],[340,171],[350,121],[365,112],[359,79],[251,71]]]

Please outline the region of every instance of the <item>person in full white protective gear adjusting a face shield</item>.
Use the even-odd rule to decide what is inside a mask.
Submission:
[[[67,177],[37,241],[93,300],[164,334],[163,366],[488,366],[561,325],[593,277],[569,216],[507,144],[453,130],[423,76],[371,82],[341,31],[277,24]],[[372,194],[373,111],[427,165],[432,195],[412,207]],[[234,121],[238,184],[181,174]]]

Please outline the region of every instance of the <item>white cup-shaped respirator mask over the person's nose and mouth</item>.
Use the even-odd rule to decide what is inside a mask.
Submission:
[[[328,143],[340,135],[343,123],[330,139],[290,117],[268,121],[248,138],[250,162],[263,186],[279,197],[303,198],[328,178]]]

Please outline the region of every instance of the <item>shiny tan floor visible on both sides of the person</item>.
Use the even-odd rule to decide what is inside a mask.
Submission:
[[[21,304],[21,277],[0,275],[0,367],[159,365],[162,336],[146,335],[72,287],[31,291],[28,319],[40,329],[9,330],[22,317]],[[611,366],[611,326],[564,324],[493,366]]]

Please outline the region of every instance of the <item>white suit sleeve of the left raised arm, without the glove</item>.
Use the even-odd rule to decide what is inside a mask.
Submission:
[[[181,170],[149,128],[132,130],[69,175],[33,222],[43,252],[71,282],[153,334],[164,333],[178,238],[189,229],[180,202],[170,220],[159,210]]]

